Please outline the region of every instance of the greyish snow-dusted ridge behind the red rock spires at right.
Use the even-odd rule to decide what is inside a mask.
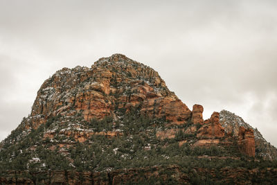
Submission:
[[[245,123],[244,120],[229,111],[222,110],[220,112],[220,123],[224,127],[225,132],[233,136],[239,135],[240,127],[250,128],[254,132],[254,139],[256,145],[256,157],[262,157],[264,159],[277,159],[277,149],[274,146],[271,146],[263,137],[262,134],[257,130],[257,128],[251,127],[248,123]]]

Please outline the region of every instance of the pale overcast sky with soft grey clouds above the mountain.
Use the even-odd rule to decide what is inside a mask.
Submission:
[[[55,71],[123,53],[204,118],[227,109],[277,146],[276,50],[276,0],[0,0],[0,140]]]

